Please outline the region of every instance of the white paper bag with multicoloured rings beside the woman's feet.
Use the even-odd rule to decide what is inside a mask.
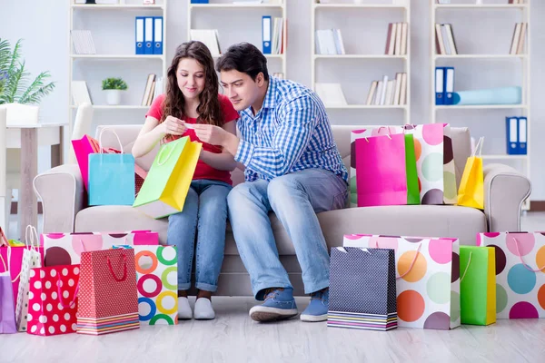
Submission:
[[[114,246],[134,249],[140,321],[178,323],[178,259],[175,246]]]

